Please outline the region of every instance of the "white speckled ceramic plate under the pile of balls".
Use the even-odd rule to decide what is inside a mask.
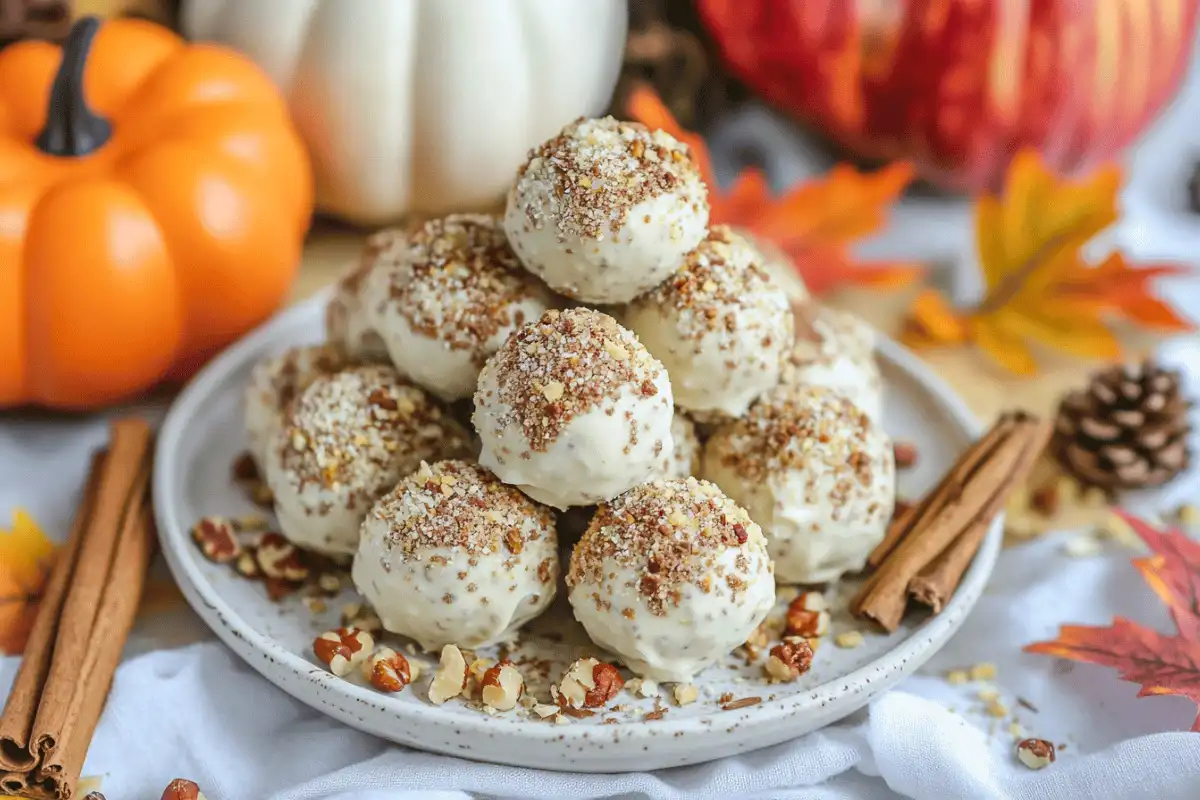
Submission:
[[[641,718],[653,699],[619,694],[623,710],[569,724],[533,718],[517,709],[490,716],[461,700],[434,706],[426,699],[430,669],[400,694],[382,694],[358,681],[335,678],[312,657],[311,644],[336,627],[347,591],[314,615],[298,599],[270,602],[259,583],[206,561],[188,536],[205,515],[254,511],[230,480],[230,463],[244,450],[241,397],[253,363],[268,353],[314,342],[322,336],[324,296],[295,307],[208,366],[175,402],[158,439],[155,499],[162,548],[188,602],[226,644],[283,691],[342,722],[422,750],[474,759],[577,771],[648,770],[695,764],[773,745],[829,724],[862,708],[929,658],[962,622],[983,591],[1001,543],[997,522],[942,614],[910,616],[892,636],[868,632],[856,649],[827,639],[812,669],[787,685],[768,685],[761,666],[736,656],[696,680],[700,699],[676,706],[670,687],[659,703],[660,720]],[[976,435],[970,413],[906,350],[883,341],[878,353],[888,385],[886,427],[898,439],[919,443],[920,463],[900,474],[901,495],[925,491]],[[832,634],[864,626],[845,612],[853,582],[832,588]],[[595,654],[571,619],[564,594],[522,633],[512,656],[538,660],[552,678],[571,660]],[[396,643],[402,646],[404,643]],[[494,655],[486,649],[480,655]],[[426,660],[428,666],[432,660]],[[536,672],[533,667],[527,672]],[[545,686],[534,684],[542,698]],[[761,702],[721,710],[722,696]],[[726,699],[726,702],[728,702]]]

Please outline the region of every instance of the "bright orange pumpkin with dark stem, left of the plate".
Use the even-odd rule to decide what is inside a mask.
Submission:
[[[0,52],[0,407],[187,377],[280,305],[312,175],[233,50],[92,18]]]

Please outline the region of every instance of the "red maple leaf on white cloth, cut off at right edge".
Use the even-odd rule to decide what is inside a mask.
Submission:
[[[1025,651],[1115,667],[1123,680],[1141,684],[1138,697],[1178,694],[1200,705],[1200,542],[1122,517],[1151,549],[1151,557],[1133,565],[1170,609],[1178,633],[1168,636],[1118,616],[1112,625],[1064,625],[1057,639],[1036,642]],[[1200,732],[1200,716],[1192,729]]]

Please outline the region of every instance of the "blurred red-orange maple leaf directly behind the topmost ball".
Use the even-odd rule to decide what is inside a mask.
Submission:
[[[888,209],[912,181],[910,164],[895,163],[870,174],[838,164],[824,178],[800,184],[781,196],[772,191],[761,169],[750,168],[722,191],[704,139],[683,130],[652,89],[634,89],[626,109],[632,119],[666,131],[691,149],[708,185],[713,223],[742,228],[774,242],[812,294],[821,295],[844,284],[892,289],[924,275],[918,264],[862,264],[850,252],[856,240],[887,224]]]

